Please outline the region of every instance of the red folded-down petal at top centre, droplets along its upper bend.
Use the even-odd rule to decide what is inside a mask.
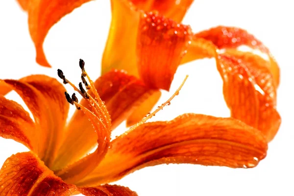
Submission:
[[[169,90],[191,40],[190,26],[152,12],[142,14],[138,30],[138,70],[153,88]]]

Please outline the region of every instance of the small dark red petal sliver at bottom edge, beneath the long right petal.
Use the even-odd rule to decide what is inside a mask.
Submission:
[[[78,188],[85,196],[138,196],[136,192],[128,187],[105,184],[98,187]]]

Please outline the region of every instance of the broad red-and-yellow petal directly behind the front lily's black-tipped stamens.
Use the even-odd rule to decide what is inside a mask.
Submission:
[[[95,87],[111,116],[112,129],[115,129],[139,107],[145,110],[142,110],[140,114],[137,112],[137,119],[133,117],[132,123],[141,120],[142,118],[138,118],[144,117],[160,97],[159,90],[150,89],[141,80],[119,70],[110,71],[99,77],[95,81]],[[91,92],[89,94],[92,95]],[[82,100],[80,104],[90,109],[85,100]],[[97,145],[97,133],[83,112],[74,113],[66,132],[67,136],[53,164],[54,170],[60,170],[66,164],[74,163]]]

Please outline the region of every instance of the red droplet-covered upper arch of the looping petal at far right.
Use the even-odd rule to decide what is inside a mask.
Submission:
[[[270,71],[274,77],[275,85],[278,86],[280,71],[279,67],[270,54],[270,50],[252,34],[249,34],[246,30],[237,27],[217,26],[205,31],[201,31],[194,35],[195,38],[203,38],[211,41],[220,49],[237,48],[245,45],[252,49],[260,50],[266,53],[270,61]]]

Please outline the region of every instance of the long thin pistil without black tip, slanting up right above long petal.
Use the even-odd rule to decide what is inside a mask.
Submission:
[[[184,81],[182,82],[182,84],[180,85],[180,87],[178,87],[178,89],[172,94],[172,96],[163,104],[161,104],[161,106],[157,107],[157,109],[155,109],[152,113],[148,113],[148,115],[143,118],[140,122],[138,122],[136,125],[134,125],[133,127],[131,127],[128,131],[126,131],[124,134],[133,131],[134,129],[136,129],[137,127],[139,127],[140,125],[142,125],[143,123],[145,123],[148,119],[152,118],[152,116],[155,116],[155,114],[162,110],[166,105],[171,105],[171,101],[172,99],[179,94],[179,91],[181,90],[181,88],[184,86],[186,80],[188,78],[188,75],[186,75]]]

